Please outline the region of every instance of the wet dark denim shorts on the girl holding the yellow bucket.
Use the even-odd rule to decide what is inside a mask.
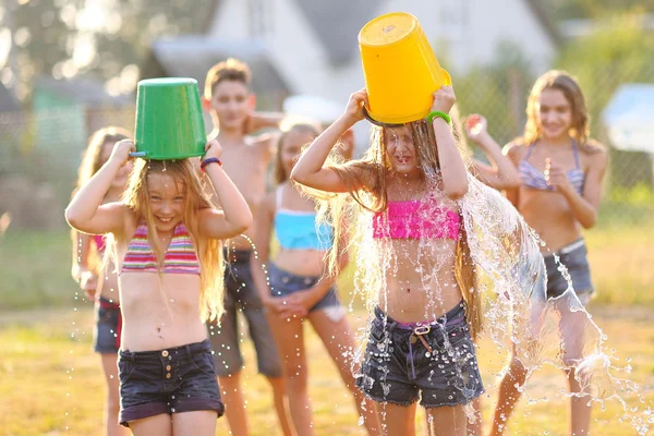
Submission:
[[[399,324],[375,307],[356,386],[377,402],[410,405],[420,396],[425,408],[467,404],[481,396],[465,303],[420,327]]]

